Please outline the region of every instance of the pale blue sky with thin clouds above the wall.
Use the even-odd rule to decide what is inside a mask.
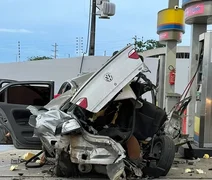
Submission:
[[[109,20],[97,18],[95,55],[111,55],[133,43],[133,37],[158,40],[157,13],[167,8],[168,0],[110,0],[116,14]],[[1,0],[0,63],[32,56],[52,56],[57,43],[58,58],[79,56],[76,38],[83,40],[86,52],[89,0]],[[183,42],[190,44],[190,27]]]

